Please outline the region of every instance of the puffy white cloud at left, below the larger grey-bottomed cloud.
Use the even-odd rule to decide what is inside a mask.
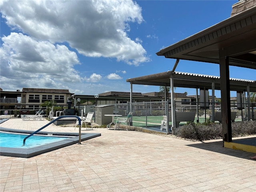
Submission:
[[[73,68],[80,62],[76,53],[66,46],[34,40],[21,33],[11,33],[2,37],[2,41],[1,81],[26,78],[26,82],[40,81],[41,84],[44,80],[80,82],[80,76]]]

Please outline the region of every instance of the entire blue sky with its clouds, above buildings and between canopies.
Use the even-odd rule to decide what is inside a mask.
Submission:
[[[175,60],[156,52],[229,18],[236,2],[1,1],[0,87],[130,92],[126,79],[172,70]],[[185,60],[176,71],[220,75],[218,64]],[[230,77],[256,80],[256,70],[230,66]],[[133,91],[159,87],[134,85]]]

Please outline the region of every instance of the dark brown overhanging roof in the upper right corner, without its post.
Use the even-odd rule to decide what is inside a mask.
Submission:
[[[220,54],[221,52],[221,54]],[[220,63],[256,69],[256,6],[156,53],[166,58]]]

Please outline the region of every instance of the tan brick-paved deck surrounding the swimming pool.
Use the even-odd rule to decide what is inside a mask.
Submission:
[[[0,126],[37,130],[47,123],[47,120],[12,118]],[[44,131],[78,132],[78,129],[51,124]],[[31,158],[0,156],[0,191],[256,190],[256,160],[250,159],[255,154],[224,148],[222,140],[192,142],[106,128],[82,129],[82,132],[101,133],[101,136]]]

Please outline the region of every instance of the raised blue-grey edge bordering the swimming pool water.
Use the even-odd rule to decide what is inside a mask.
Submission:
[[[8,128],[2,128],[0,127],[0,131],[4,132],[15,132],[15,133],[27,133],[30,134],[33,131],[28,130],[15,130],[15,129],[8,129]],[[40,134],[47,134],[49,132],[39,132]],[[52,133],[52,132],[50,132]],[[1,156],[11,156],[11,157],[21,157],[21,158],[30,158],[34,157],[46,152],[50,152],[59,148],[63,148],[66,146],[70,146],[76,143],[79,143],[79,136],[78,133],[65,133],[65,132],[58,132],[53,133],[57,134],[58,136],[75,136],[71,138],[67,138],[65,140],[53,142],[50,144],[45,144],[33,148],[9,148],[9,147],[0,147],[0,155]],[[89,140],[92,138],[96,138],[98,136],[101,136],[100,133],[82,133],[81,134],[81,141]],[[22,144],[21,144],[22,145]]]

